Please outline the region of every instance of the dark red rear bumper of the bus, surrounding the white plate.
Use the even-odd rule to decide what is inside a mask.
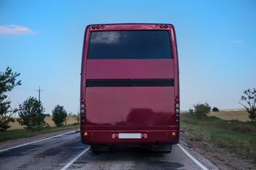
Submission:
[[[176,144],[179,137],[179,130],[81,130],[80,133],[82,143],[88,145],[149,145],[156,141],[162,144]],[[119,133],[140,133],[142,137],[119,139]]]

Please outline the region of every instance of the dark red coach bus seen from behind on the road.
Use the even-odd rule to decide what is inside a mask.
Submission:
[[[93,152],[114,145],[171,152],[180,113],[174,26],[87,26],[80,88],[81,140]]]

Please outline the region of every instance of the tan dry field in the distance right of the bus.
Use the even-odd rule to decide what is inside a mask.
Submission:
[[[247,111],[220,111],[220,112],[210,112],[208,116],[216,116],[223,120],[240,120],[246,122],[249,120]]]

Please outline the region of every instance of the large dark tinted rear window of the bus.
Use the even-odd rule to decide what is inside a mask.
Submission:
[[[167,30],[95,31],[90,35],[88,59],[169,59]]]

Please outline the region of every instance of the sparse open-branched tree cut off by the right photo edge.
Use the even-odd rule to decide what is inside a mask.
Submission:
[[[246,111],[249,113],[249,118],[251,122],[253,120],[256,120],[256,89],[253,88],[253,91],[250,89],[247,89],[246,91],[243,91],[245,96],[242,96],[239,103],[246,108]]]

